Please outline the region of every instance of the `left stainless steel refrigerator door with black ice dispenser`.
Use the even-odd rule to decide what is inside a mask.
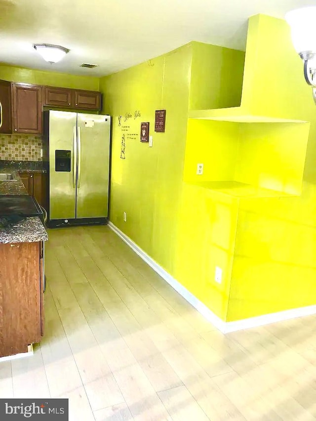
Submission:
[[[77,113],[46,113],[49,119],[49,219],[75,218]]]

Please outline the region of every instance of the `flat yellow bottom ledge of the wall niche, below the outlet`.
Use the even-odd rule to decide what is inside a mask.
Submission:
[[[237,181],[187,182],[187,184],[244,199],[298,196],[298,194],[288,194],[282,191],[264,189],[261,187],[252,186],[250,184],[239,183]]]

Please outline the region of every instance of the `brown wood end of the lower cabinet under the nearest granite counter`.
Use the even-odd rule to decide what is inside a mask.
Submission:
[[[0,244],[0,357],[27,352],[44,326],[43,243]]]

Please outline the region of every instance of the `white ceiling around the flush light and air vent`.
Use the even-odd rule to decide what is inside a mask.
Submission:
[[[0,0],[0,62],[103,76],[197,40],[245,48],[247,19],[283,18],[308,0]],[[34,43],[71,51],[50,65]],[[83,69],[81,63],[98,64]]]

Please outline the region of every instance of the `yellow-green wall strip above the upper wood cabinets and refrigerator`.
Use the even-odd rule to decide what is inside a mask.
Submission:
[[[0,79],[12,82],[34,83],[38,85],[60,86],[63,88],[99,90],[99,78],[68,75],[0,64]]]

